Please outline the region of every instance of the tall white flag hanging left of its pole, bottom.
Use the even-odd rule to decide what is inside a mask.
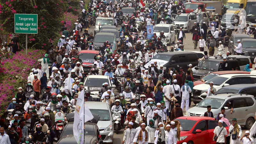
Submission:
[[[76,101],[73,132],[76,142],[84,144],[84,89],[80,92]]]

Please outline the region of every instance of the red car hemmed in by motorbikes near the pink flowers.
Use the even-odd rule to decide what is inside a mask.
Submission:
[[[82,66],[84,68],[84,73],[87,74],[91,70],[91,68],[95,62],[94,56],[99,53],[100,53],[100,51],[95,51],[95,50],[82,50],[78,53],[79,59],[82,60]]]

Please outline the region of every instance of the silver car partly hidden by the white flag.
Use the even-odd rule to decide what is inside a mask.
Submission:
[[[106,102],[85,102],[85,105],[90,109],[92,114],[100,116],[100,120],[97,123],[101,139],[104,143],[113,143],[113,118],[111,109]]]

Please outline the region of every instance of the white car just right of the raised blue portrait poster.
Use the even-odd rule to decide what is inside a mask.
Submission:
[[[174,32],[174,26],[172,24],[157,24],[154,28],[154,33],[156,33],[156,36],[160,35],[161,31],[164,31],[164,36],[167,39],[167,45],[175,44],[175,32]]]

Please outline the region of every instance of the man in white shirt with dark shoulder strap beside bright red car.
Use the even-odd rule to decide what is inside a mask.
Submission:
[[[219,120],[218,122],[218,125],[219,126],[216,126],[213,133],[213,138],[212,138],[212,141],[214,141],[214,137],[215,136],[218,136],[218,139],[217,139],[217,143],[226,143],[226,136],[228,135],[228,132],[227,130],[225,129],[225,127],[222,126],[223,124],[223,121],[222,120]]]

